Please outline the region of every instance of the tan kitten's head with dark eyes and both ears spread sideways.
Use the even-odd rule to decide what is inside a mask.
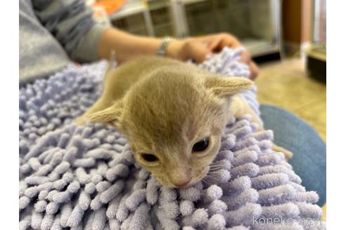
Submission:
[[[219,151],[231,96],[251,87],[248,79],[162,67],[89,120],[122,130],[136,161],[162,185],[186,187]]]

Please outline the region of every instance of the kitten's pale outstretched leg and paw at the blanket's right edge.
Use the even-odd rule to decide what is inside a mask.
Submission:
[[[236,95],[233,97],[230,108],[231,114],[236,118],[240,118],[245,114],[250,114],[252,116],[252,122],[257,123],[256,131],[264,131],[262,120],[255,114],[255,112],[250,108],[248,102],[246,102],[242,97]],[[286,159],[293,156],[293,153],[283,147],[279,147],[276,144],[272,144],[271,149],[274,151],[282,152]]]

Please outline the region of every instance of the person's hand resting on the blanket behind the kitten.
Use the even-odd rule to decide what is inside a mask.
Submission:
[[[167,56],[184,61],[192,58],[197,62],[203,62],[207,55],[218,53],[225,46],[238,48],[242,45],[231,34],[211,34],[172,41],[167,46]],[[258,67],[255,62],[252,62],[248,51],[245,50],[241,54],[241,61],[249,65],[250,79],[255,79],[258,74]]]

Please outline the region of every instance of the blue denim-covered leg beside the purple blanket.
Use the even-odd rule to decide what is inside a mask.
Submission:
[[[326,203],[326,144],[319,134],[294,114],[262,104],[259,108],[264,128],[274,131],[274,142],[293,152],[288,161],[302,185],[319,194],[318,205]]]

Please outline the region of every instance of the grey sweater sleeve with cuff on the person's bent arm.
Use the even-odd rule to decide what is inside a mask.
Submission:
[[[92,18],[93,11],[84,0],[32,0],[40,22],[65,48],[72,60],[98,59],[97,48],[107,29]]]

